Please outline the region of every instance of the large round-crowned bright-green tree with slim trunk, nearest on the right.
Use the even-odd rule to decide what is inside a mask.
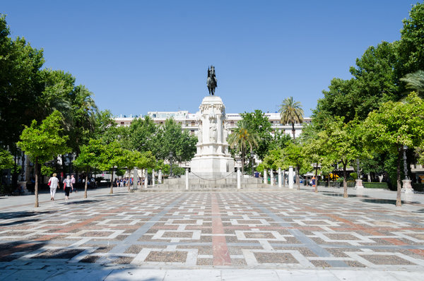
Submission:
[[[367,146],[381,153],[397,155],[397,198],[401,205],[401,159],[404,145],[419,148],[424,139],[424,102],[416,93],[405,102],[386,102],[371,112],[363,123],[363,136]]]

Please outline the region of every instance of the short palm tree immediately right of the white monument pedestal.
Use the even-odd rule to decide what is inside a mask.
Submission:
[[[250,148],[250,152],[252,152],[253,148],[258,146],[258,141],[258,134],[249,130],[245,120],[238,121],[237,128],[228,136],[228,144],[230,147],[237,148],[242,154],[242,174],[245,173],[245,156],[247,148]]]

